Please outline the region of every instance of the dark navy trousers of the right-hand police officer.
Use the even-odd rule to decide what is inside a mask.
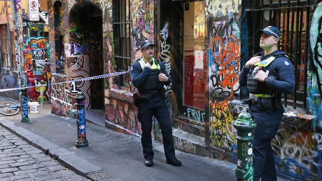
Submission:
[[[264,122],[257,122],[253,130],[253,181],[276,181],[276,169],[270,141],[275,137],[278,126],[267,127]]]

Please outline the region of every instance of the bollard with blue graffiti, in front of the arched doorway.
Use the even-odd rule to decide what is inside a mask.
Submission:
[[[86,139],[86,120],[85,120],[85,95],[83,92],[77,92],[75,97],[77,101],[77,140],[76,148],[88,146]]]

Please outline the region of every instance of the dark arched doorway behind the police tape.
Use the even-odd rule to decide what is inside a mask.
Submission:
[[[103,18],[100,8],[90,2],[74,5],[69,15],[68,41],[70,45],[68,53],[72,58],[71,60],[67,58],[69,63],[67,66],[70,69],[69,76],[73,75],[72,79],[103,75]],[[72,69],[76,64],[77,69]],[[87,109],[104,110],[103,81],[104,79],[95,79],[75,82],[71,93],[84,91],[86,98],[89,99],[86,102]]]

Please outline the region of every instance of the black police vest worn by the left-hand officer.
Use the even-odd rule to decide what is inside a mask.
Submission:
[[[142,84],[142,86],[140,86],[139,88],[137,88],[139,90],[139,92],[144,93],[148,90],[157,90],[160,91],[163,89],[164,87],[164,83],[159,81],[159,74],[161,73],[160,69],[160,65],[159,65],[159,60],[155,60],[154,58],[152,58],[153,64],[151,66],[151,70],[149,72],[149,74],[146,76],[144,83]],[[145,63],[142,59],[139,59],[137,61],[142,70],[144,69]]]

